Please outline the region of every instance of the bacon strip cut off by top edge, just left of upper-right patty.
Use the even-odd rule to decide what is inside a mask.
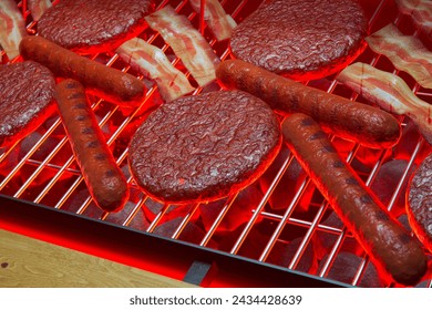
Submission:
[[[192,8],[200,13],[202,0],[189,0]],[[237,25],[236,21],[225,12],[218,0],[205,0],[204,20],[212,30],[217,41],[232,38],[233,29]]]

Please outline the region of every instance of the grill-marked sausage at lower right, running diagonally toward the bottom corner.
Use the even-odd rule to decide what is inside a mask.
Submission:
[[[282,135],[300,165],[379,267],[384,279],[393,278],[405,286],[419,282],[428,269],[420,241],[409,235],[339,157],[318,123],[308,115],[295,113],[284,121]]]

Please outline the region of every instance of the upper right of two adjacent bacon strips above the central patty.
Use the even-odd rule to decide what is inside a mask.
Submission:
[[[216,79],[215,72],[220,59],[186,17],[166,6],[145,20],[153,30],[161,33],[200,86]]]

